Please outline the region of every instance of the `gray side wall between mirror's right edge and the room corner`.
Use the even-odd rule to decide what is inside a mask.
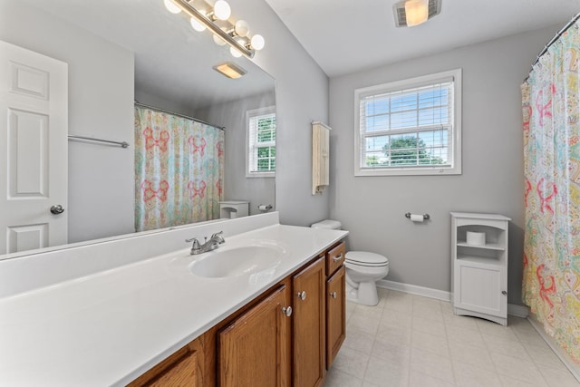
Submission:
[[[231,1],[266,38],[254,62],[276,83],[275,207],[280,222],[309,226],[329,215],[329,193],[312,195],[311,121],[328,122],[328,77],[264,0]],[[237,8],[235,8],[235,6]]]

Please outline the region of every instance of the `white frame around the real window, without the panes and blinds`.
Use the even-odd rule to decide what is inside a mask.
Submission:
[[[397,92],[428,86],[439,82],[452,81],[453,119],[449,139],[449,167],[442,166],[398,166],[398,167],[362,167],[361,149],[361,100],[372,95]],[[409,131],[418,133],[419,131]],[[461,69],[441,73],[422,75],[401,81],[382,83],[354,90],[354,176],[417,176],[417,175],[460,175],[461,174]]]

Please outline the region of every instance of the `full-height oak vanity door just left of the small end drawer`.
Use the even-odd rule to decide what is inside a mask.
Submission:
[[[324,381],[324,282],[324,257],[292,279],[295,386],[318,386]]]

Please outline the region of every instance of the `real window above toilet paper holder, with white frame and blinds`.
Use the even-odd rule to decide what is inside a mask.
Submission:
[[[354,91],[354,175],[459,175],[461,69]]]

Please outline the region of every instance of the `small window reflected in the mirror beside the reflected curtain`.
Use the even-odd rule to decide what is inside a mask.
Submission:
[[[275,106],[246,112],[247,178],[275,176]]]

